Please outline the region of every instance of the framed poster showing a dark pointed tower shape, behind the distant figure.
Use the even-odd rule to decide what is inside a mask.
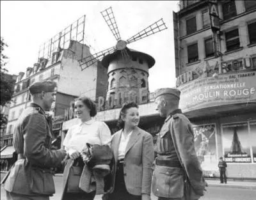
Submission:
[[[252,162],[248,123],[223,125],[222,133],[223,153],[226,162]]]

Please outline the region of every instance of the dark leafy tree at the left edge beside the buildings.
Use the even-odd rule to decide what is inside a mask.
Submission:
[[[4,42],[4,39],[1,37],[1,68],[0,68],[0,75],[1,75],[1,105],[4,106],[7,102],[12,100],[12,95],[14,91],[14,84],[15,84],[15,75],[10,75],[8,70],[4,68],[6,65],[7,56],[3,54],[4,47],[8,47],[8,45]]]

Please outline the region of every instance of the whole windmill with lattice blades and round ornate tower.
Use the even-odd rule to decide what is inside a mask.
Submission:
[[[113,107],[118,107],[129,101],[127,98],[131,96],[136,99],[136,102],[140,102],[139,96],[141,96],[141,102],[147,102],[149,100],[148,69],[155,64],[155,60],[148,54],[129,49],[127,45],[167,29],[163,19],[157,20],[128,40],[122,40],[112,8],[109,7],[100,13],[115,37],[116,45],[79,59],[81,70],[98,61],[101,61],[102,65],[108,68],[106,98],[108,102],[112,102]],[[112,65],[113,62],[115,65]]]

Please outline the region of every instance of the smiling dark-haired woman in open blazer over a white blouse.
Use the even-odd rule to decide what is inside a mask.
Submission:
[[[153,138],[138,128],[138,105],[124,104],[120,111],[118,127],[111,141],[115,157],[113,188],[109,200],[150,200],[154,162]]]

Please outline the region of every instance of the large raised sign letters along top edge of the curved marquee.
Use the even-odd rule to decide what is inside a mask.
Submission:
[[[202,64],[200,64],[202,65]],[[229,61],[223,61],[218,63],[216,61],[215,65],[210,66],[208,61],[205,61],[204,66],[197,66],[194,70],[182,73],[176,80],[176,86],[179,87],[182,84],[193,81],[198,77],[210,77],[214,73],[227,73],[227,72],[237,72],[240,70],[252,69],[252,59],[251,58],[242,58],[242,59],[233,59]]]

